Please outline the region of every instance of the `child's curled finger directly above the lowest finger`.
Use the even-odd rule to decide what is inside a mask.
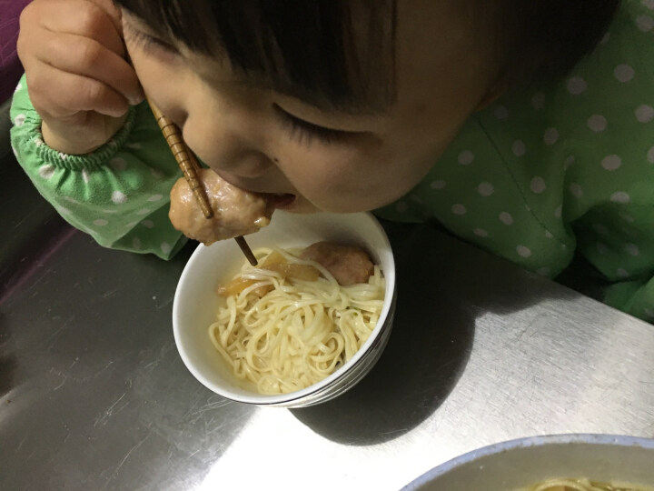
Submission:
[[[38,59],[59,70],[94,78],[124,95],[131,104],[143,100],[136,72],[122,57],[94,39],[57,34],[47,37],[48,49]]]

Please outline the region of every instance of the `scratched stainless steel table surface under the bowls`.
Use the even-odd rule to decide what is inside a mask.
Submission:
[[[173,342],[170,263],[96,246],[0,167],[0,489],[393,490],[536,434],[654,436],[654,326],[443,235],[389,226],[399,304],[359,386],[232,403]]]

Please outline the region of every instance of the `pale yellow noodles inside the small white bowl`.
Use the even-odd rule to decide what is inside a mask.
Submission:
[[[209,326],[213,346],[239,379],[261,394],[301,390],[330,376],[363,346],[381,315],[384,278],[379,266],[367,284],[341,286],[300,251],[274,250],[289,265],[312,266],[316,280],[284,277],[245,263]],[[265,265],[272,249],[254,251]]]

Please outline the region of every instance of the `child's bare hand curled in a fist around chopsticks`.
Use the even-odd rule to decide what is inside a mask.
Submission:
[[[104,145],[143,99],[111,0],[34,0],[20,18],[18,55],[45,143],[60,152]]]

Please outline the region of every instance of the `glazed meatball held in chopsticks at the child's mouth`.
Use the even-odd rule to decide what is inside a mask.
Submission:
[[[219,240],[253,234],[270,224],[274,203],[269,196],[243,191],[229,184],[211,169],[199,169],[213,216],[203,215],[186,179],[179,179],[171,190],[168,216],[173,226],[205,246]]]

